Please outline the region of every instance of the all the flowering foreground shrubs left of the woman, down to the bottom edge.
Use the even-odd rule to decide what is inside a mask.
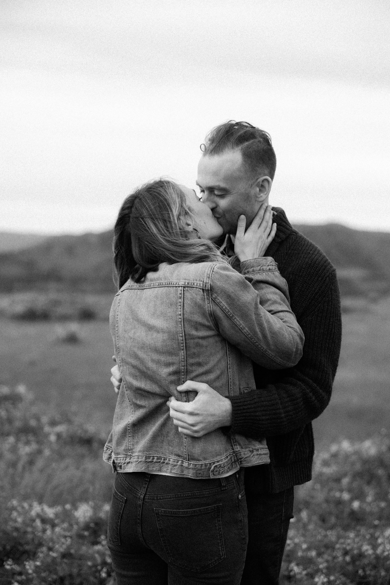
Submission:
[[[104,438],[45,417],[24,386],[0,386],[0,441],[0,583],[113,584]]]

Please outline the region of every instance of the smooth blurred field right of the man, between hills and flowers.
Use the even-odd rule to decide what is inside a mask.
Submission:
[[[343,314],[340,363],[329,406],[314,421],[317,449],[390,428],[390,298]]]

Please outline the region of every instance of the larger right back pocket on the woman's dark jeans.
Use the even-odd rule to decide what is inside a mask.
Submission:
[[[193,510],[155,508],[160,539],[170,563],[200,572],[225,558],[221,504]]]

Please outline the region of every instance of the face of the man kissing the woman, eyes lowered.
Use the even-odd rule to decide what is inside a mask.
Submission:
[[[225,233],[235,234],[242,214],[248,226],[258,211],[256,190],[249,183],[240,150],[202,156],[197,185],[202,201],[210,207]]]

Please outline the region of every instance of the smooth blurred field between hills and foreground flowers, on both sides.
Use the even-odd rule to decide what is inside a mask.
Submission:
[[[0,384],[25,384],[45,412],[110,429],[112,340],[106,321],[1,319]],[[76,342],[64,342],[67,331]],[[317,449],[340,438],[364,440],[390,427],[390,298],[343,315],[333,397],[314,421]]]

